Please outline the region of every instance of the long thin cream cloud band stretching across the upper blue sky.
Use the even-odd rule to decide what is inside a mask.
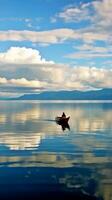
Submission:
[[[40,45],[64,43],[68,40],[82,40],[87,43],[94,41],[112,41],[112,36],[103,32],[92,30],[54,29],[49,31],[0,31],[0,41],[31,41]]]

